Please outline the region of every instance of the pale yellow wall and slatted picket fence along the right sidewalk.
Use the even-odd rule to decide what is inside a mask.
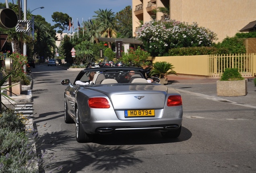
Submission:
[[[166,61],[177,74],[219,78],[225,68],[237,68],[244,77],[256,76],[256,54],[224,54],[195,56],[161,56],[153,62]]]

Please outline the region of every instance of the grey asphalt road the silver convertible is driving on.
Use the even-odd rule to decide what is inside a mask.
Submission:
[[[209,95],[203,90],[214,84],[169,85],[183,99],[178,139],[163,139],[158,132],[118,133],[77,143],[74,124],[64,123],[65,87],[60,81],[73,81],[78,71],[40,65],[32,72],[37,145],[47,151],[40,173],[256,172],[256,105],[216,101],[211,90]]]

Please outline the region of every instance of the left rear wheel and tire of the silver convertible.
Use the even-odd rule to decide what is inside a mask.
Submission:
[[[80,123],[80,117],[79,117],[79,112],[76,107],[76,119],[75,119],[75,124],[76,124],[76,141],[78,143],[89,143],[93,140],[93,135],[89,135],[85,133],[81,123]]]

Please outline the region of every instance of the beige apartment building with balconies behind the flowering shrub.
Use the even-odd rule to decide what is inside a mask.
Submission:
[[[153,13],[158,7],[168,6],[169,14]],[[221,42],[256,20],[256,0],[132,0],[133,36],[141,22],[168,19],[197,22],[215,32],[216,42]]]

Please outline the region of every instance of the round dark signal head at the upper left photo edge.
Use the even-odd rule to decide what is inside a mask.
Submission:
[[[14,28],[18,23],[17,14],[10,8],[0,10],[0,27],[4,29]]]

